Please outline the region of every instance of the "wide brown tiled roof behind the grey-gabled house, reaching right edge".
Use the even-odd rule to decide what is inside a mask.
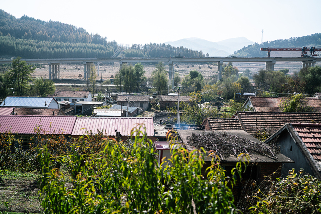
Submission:
[[[275,133],[285,123],[321,123],[321,113],[291,112],[237,112],[244,131],[251,135],[256,133]]]

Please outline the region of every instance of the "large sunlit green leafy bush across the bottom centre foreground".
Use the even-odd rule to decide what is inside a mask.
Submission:
[[[157,167],[153,143],[140,130],[131,138],[129,149],[107,138],[100,140],[100,151],[82,154],[85,139],[89,136],[81,137],[60,156],[51,155],[47,146],[38,150],[44,213],[236,213],[219,163],[212,161],[204,179],[203,152],[172,149],[171,159]],[[71,186],[55,168],[57,159],[69,165]],[[241,162],[237,166],[240,172]],[[235,173],[234,169],[232,178]]]

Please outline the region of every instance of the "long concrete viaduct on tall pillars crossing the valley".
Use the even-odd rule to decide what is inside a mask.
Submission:
[[[222,78],[223,62],[265,62],[267,70],[274,70],[276,62],[302,62],[302,68],[308,68],[314,66],[317,61],[321,61],[321,58],[313,57],[200,57],[200,58],[66,58],[66,59],[21,59],[27,63],[48,63],[49,65],[49,79],[60,78],[60,63],[83,63],[84,67],[84,79],[89,79],[90,64],[95,62],[119,62],[120,66],[127,63],[157,63],[163,62],[169,65],[169,80],[174,83],[174,63],[201,63],[201,62],[217,62],[218,75],[217,79]],[[11,60],[0,60],[0,64],[10,64]]]

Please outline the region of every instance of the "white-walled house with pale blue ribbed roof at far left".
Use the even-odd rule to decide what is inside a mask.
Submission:
[[[1,107],[60,109],[53,97],[7,97]]]

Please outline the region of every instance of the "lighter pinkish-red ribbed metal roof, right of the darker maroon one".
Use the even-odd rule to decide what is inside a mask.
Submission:
[[[122,136],[130,136],[133,128],[140,124],[146,128],[147,136],[154,136],[153,118],[146,117],[78,117],[72,132],[73,136],[84,135],[86,131],[106,132],[108,136],[116,136],[115,130]]]

